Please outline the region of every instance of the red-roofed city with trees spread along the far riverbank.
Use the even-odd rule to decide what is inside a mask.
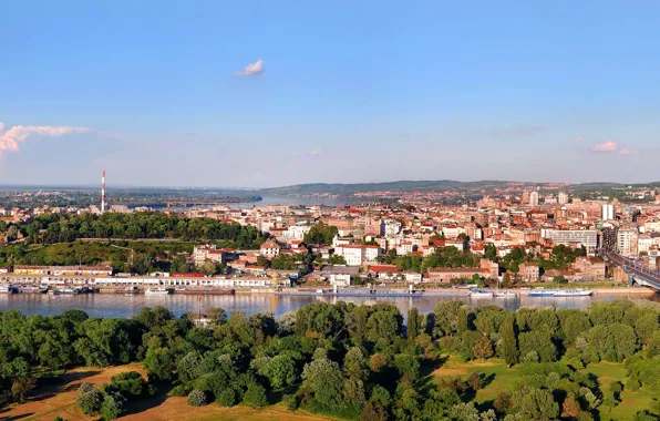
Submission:
[[[55,291],[131,285],[182,287],[179,292],[639,284],[621,265],[606,261],[602,250],[658,270],[660,192],[630,186],[619,188],[621,199],[594,192],[595,198],[581,199],[570,188],[501,183],[484,194],[477,186],[461,197],[482,197],[462,205],[437,204],[441,194],[433,192],[390,192],[395,199],[380,203],[373,197],[388,192],[377,191],[370,202],[340,206],[210,204],[175,212],[109,198],[89,207],[0,208],[0,270],[6,283]],[[73,247],[61,249],[62,243]]]

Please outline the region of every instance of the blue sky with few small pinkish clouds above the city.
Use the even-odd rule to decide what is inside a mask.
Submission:
[[[8,0],[0,16],[0,184],[660,179],[653,1]]]

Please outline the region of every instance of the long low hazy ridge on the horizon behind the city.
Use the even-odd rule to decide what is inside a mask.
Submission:
[[[437,181],[399,181],[386,183],[355,183],[355,184],[296,184],[292,186],[261,188],[258,191],[260,195],[311,195],[311,194],[336,194],[347,195],[353,193],[368,192],[445,192],[448,189],[462,188],[494,188],[506,186],[538,186],[544,187],[556,183],[528,183],[528,182],[507,182],[496,179],[483,179],[477,182],[457,182],[454,179],[437,179]],[[659,186],[660,183],[648,184],[620,184],[620,183],[584,183],[574,184],[573,188],[577,191],[591,191],[605,188],[621,188],[626,186]]]

